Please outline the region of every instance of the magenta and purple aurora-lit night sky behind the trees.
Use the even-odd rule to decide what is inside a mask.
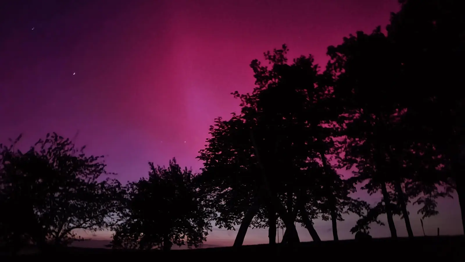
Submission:
[[[290,59],[312,54],[325,65],[327,46],[384,28],[398,10],[397,0],[1,1],[0,143],[23,133],[27,148],[56,131],[106,155],[122,182],[146,176],[148,161],[167,165],[172,157],[197,171],[213,119],[239,109],[230,93],[253,89],[252,59],[286,43]],[[422,235],[418,207],[409,208],[413,232]],[[441,200],[438,210],[425,220],[426,234],[438,227],[462,234],[457,198]],[[356,219],[339,222],[340,239],[353,238]],[[399,217],[396,227],[407,235]],[[332,240],[330,221],[315,228]],[[387,225],[370,233],[390,236]],[[266,243],[267,234],[249,229],[245,244]],[[235,235],[214,229],[207,244],[231,245]]]

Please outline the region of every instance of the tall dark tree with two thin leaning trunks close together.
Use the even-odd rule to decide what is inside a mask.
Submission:
[[[343,44],[329,47],[331,63],[328,70],[336,79],[334,95],[345,107],[345,156],[341,163],[347,168],[356,165],[359,181],[368,179],[364,189],[372,194],[381,191],[392,237],[397,232],[392,219],[399,212],[393,204],[390,185],[402,195],[405,182],[399,170],[402,163],[393,156],[397,140],[395,129],[403,103],[399,86],[401,66],[391,43],[377,28],[372,34],[357,32],[344,38]],[[402,139],[402,138],[400,138]],[[402,204],[405,207],[405,202]],[[403,208],[407,231],[412,236],[408,213]]]

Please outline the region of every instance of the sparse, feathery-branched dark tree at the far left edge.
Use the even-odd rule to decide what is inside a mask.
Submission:
[[[24,154],[14,148],[18,141],[1,146],[1,205],[9,210],[1,223],[7,234],[45,248],[76,240],[76,229],[98,231],[112,224],[120,184],[98,181],[106,174],[103,156],[86,156],[85,147],[56,133]]]

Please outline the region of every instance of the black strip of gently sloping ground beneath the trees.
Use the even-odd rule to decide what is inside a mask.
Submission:
[[[243,246],[241,248],[202,248],[193,250],[172,250],[168,253],[153,251],[126,251],[100,248],[66,248],[49,254],[28,255],[27,258],[105,258],[123,259],[157,259],[187,258],[200,260],[262,259],[288,258],[310,261],[465,261],[464,236],[416,237],[414,239],[390,238],[372,239],[371,241],[323,241],[321,243],[303,242],[296,247],[277,244]],[[16,260],[16,259],[14,259]],[[0,261],[10,261],[1,257]],[[244,261],[245,262],[245,261]]]

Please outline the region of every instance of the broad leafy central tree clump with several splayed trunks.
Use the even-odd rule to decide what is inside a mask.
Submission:
[[[233,93],[241,100],[241,114],[230,120],[218,118],[207,148],[200,151],[199,159],[205,161],[202,176],[216,190],[220,217],[229,225],[242,219],[236,246],[262,213],[270,242],[274,242],[277,216],[287,229],[283,241],[297,241],[296,220],[318,241],[312,219],[319,214],[331,217],[337,240],[336,221],[341,214],[360,214],[365,204],[348,197],[351,186],[329,163],[328,156],[339,150],[332,137],[338,133],[333,122],[340,109],[327,90],[326,77],[319,76],[311,56],[287,64],[286,52],[284,45],[265,53],[270,68],[252,61],[256,88],[251,94]],[[318,85],[320,80],[323,83]]]

